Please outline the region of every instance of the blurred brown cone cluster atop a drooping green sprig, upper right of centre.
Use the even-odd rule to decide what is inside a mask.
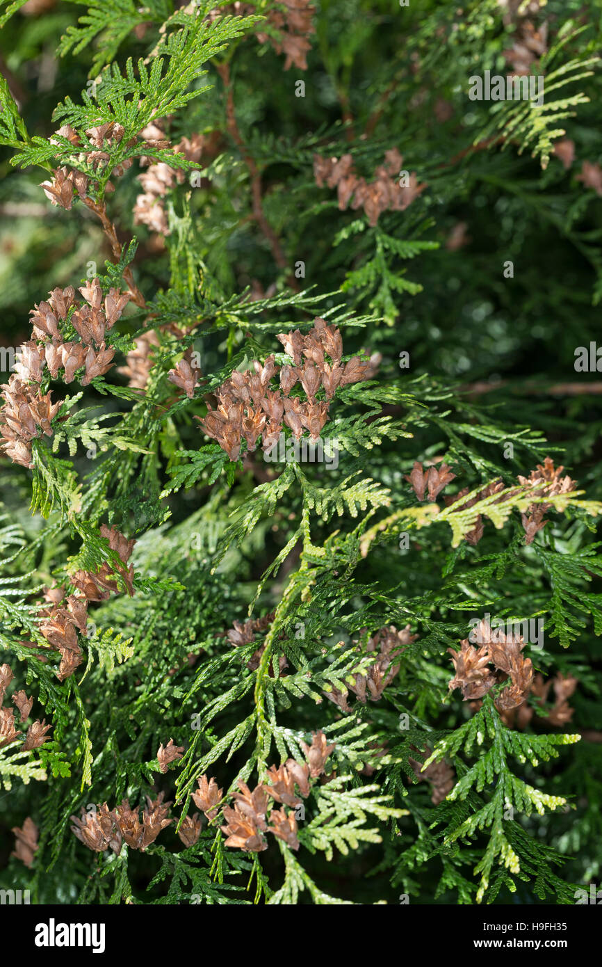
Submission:
[[[426,188],[426,184],[418,185],[414,171],[407,185],[399,184],[397,179],[402,164],[403,157],[397,148],[390,148],[385,152],[385,163],[374,172],[372,182],[358,177],[351,155],[342,155],[339,159],[314,155],[313,171],[319,188],[326,184],[329,188],[337,189],[341,212],[350,205],[354,211],[363,208],[368,222],[374,226],[387,210],[404,212]]]

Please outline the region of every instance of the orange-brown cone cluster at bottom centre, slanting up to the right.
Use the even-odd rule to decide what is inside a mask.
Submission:
[[[301,798],[309,795],[310,778],[318,778],[325,773],[325,766],[334,745],[329,746],[327,738],[321,730],[312,733],[311,746],[301,742],[301,748],[306,761],[299,763],[295,759],[287,759],[285,763],[268,770],[269,782],[260,782],[251,791],[245,782],[239,779],[239,792],[234,793],[234,806],[223,806],[225,825],[221,832],[226,835],[226,846],[241,849],[247,853],[261,853],[268,849],[268,843],[262,834],[272,833],[282,839],[291,849],[299,849],[297,817],[295,812],[288,812],[284,806],[295,809],[301,805]],[[199,788],[192,794],[192,800],[202,809],[210,822],[215,820],[219,812],[219,804],[223,797],[223,790],[219,789],[215,778],[201,776],[198,779]],[[296,792],[295,787],[299,792]],[[280,809],[270,808],[270,800],[280,804]],[[268,825],[271,823],[272,825]]]

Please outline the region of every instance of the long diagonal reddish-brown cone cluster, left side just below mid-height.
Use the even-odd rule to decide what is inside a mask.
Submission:
[[[65,588],[55,587],[47,589],[44,595],[48,606],[40,611],[43,621],[39,627],[48,645],[61,653],[61,663],[56,673],[60,682],[70,678],[83,660],[77,632],[86,634],[88,603],[106,601],[111,591],[118,594],[121,585],[117,576],[125,584],[128,594],[133,595],[133,567],[128,567],[128,560],[135,541],[128,541],[116,527],[109,529],[105,524],[100,525],[100,535],[118,554],[121,566],[113,567],[105,563],[96,573],[74,571],[70,575],[74,594],[66,597]]]

